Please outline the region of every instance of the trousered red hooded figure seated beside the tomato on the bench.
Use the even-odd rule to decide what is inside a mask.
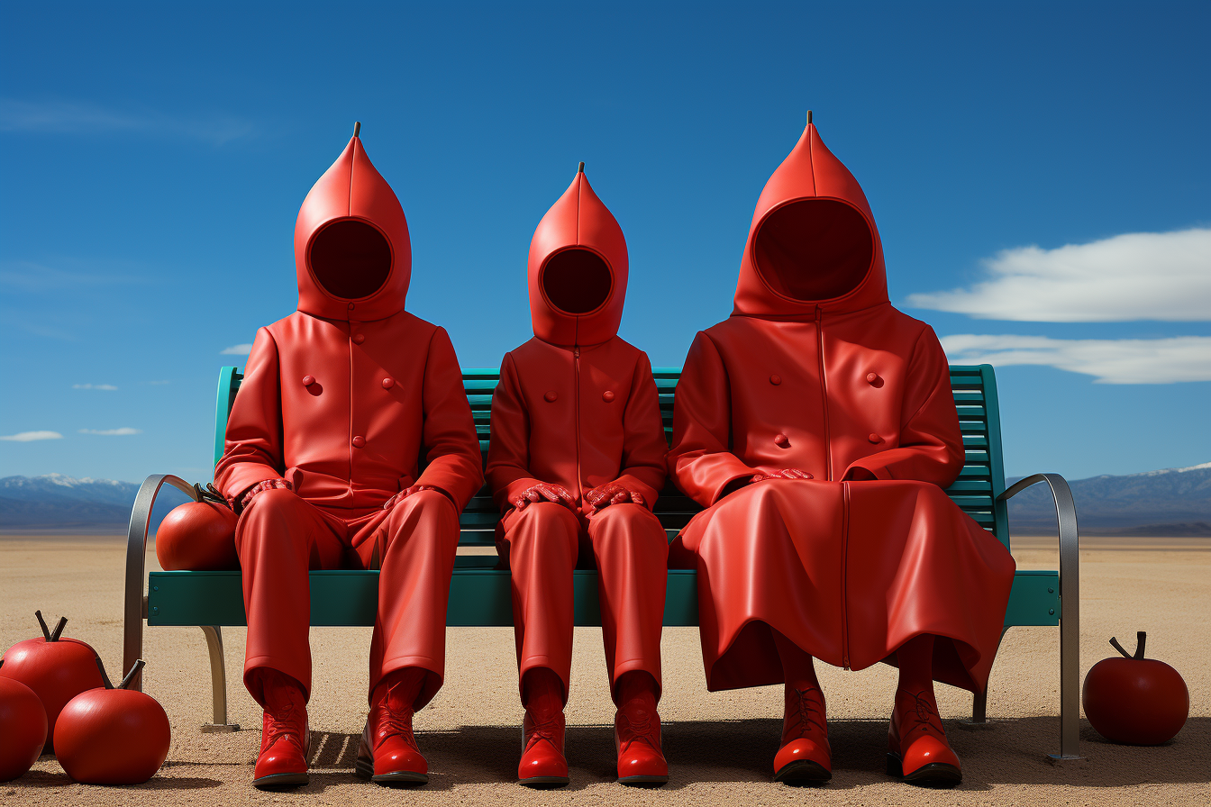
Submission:
[[[403,310],[408,223],[355,129],[299,209],[298,311],[257,332],[214,478],[240,520],[258,785],[306,782],[311,569],[380,569],[357,771],[424,782],[458,514],[483,482],[446,332]]]

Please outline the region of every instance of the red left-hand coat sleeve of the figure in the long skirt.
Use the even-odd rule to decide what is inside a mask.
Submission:
[[[673,399],[668,473],[687,496],[710,507],[723,497],[729,484],[758,473],[731,454],[730,448],[728,371],[714,342],[699,332]]]

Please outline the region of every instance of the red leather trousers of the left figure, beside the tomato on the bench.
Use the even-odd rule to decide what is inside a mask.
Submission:
[[[308,571],[381,569],[369,690],[388,673],[419,667],[430,673],[415,703],[420,708],[441,688],[446,668],[458,513],[449,498],[431,490],[390,511],[346,512],[354,518],[322,511],[289,490],[266,490],[240,517],[235,546],[248,613],[245,685],[253,670],[268,667],[300,681],[310,696]]]

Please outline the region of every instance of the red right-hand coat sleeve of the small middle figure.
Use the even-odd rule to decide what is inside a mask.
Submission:
[[[668,443],[660,420],[660,394],[652,377],[652,362],[642,351],[622,413],[622,471],[615,482],[642,494],[644,505],[652,509],[665,486]]]

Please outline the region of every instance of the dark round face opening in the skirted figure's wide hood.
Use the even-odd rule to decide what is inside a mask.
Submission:
[[[777,208],[754,234],[765,283],[798,301],[831,300],[857,288],[874,259],[866,217],[844,202],[800,200]]]

